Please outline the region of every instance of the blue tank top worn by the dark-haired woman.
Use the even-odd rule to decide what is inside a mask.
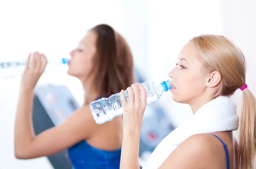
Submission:
[[[73,169],[119,169],[120,166],[121,147],[116,151],[106,151],[81,141],[68,148],[67,153]]]

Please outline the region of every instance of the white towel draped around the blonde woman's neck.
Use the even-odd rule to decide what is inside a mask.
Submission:
[[[177,127],[164,138],[148,158],[143,169],[158,169],[172,151],[189,136],[200,133],[234,131],[239,126],[236,103],[226,96],[219,96],[204,104],[185,124]]]

